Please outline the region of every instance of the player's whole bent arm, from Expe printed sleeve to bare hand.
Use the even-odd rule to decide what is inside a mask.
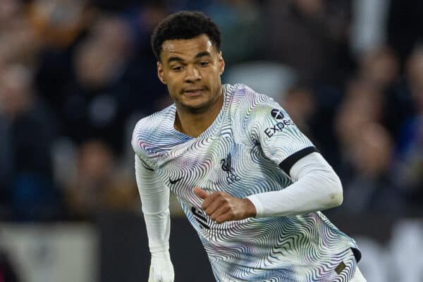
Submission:
[[[243,121],[251,140],[259,144],[266,157],[278,164],[293,183],[282,190],[244,199],[226,192],[209,195],[195,188],[196,195],[204,200],[204,211],[213,220],[219,223],[252,216],[307,214],[342,203],[341,180],[281,106],[269,99]]]

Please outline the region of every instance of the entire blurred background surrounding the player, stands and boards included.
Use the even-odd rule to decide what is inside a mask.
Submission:
[[[367,281],[423,281],[418,0],[0,0],[0,281],[147,281],[130,137],[171,104],[149,36],[180,10],[221,28],[223,82],[274,97],[341,176],[324,214]],[[171,212],[176,281],[214,281]]]

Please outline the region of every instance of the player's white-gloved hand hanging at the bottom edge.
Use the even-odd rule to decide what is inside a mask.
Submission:
[[[148,282],[173,282],[175,273],[169,252],[152,253]]]

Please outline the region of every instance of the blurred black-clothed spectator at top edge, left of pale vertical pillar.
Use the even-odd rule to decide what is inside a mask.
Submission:
[[[264,54],[298,70],[300,79],[336,80],[349,68],[350,1],[266,1]]]

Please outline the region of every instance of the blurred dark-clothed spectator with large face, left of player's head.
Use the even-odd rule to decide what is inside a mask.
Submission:
[[[125,80],[130,42],[121,18],[99,18],[73,56],[75,80],[57,93],[55,109],[63,122],[62,134],[80,144],[102,138],[121,152],[128,97],[135,94]]]

